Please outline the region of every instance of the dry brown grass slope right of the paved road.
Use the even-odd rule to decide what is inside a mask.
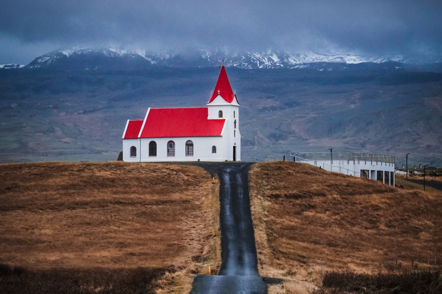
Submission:
[[[253,165],[249,184],[260,274],[286,279],[271,293],[305,293],[329,270],[442,261],[441,191],[400,190],[292,162]]]

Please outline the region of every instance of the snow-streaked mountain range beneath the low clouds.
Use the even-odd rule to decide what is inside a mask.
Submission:
[[[221,64],[240,69],[294,69],[308,67],[312,63],[357,64],[388,61],[405,64],[442,63],[442,54],[427,52],[412,55],[368,55],[342,52],[233,52],[227,50],[196,50],[194,52],[123,50],[117,48],[74,48],[54,51],[37,57],[25,66],[28,69],[46,67],[69,67],[81,69],[145,68],[153,65],[167,67],[213,67]]]

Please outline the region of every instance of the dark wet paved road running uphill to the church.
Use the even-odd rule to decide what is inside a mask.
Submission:
[[[220,179],[221,269],[218,276],[197,276],[191,294],[265,294],[250,211],[250,163],[198,163]]]

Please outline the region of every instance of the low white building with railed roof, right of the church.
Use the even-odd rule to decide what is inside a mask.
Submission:
[[[326,171],[369,178],[394,186],[394,156],[377,153],[299,153],[294,161]]]

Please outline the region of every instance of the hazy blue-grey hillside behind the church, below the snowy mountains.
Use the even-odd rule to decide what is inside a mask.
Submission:
[[[392,154],[397,166],[407,153],[409,166],[442,165],[442,73],[332,65],[227,69],[240,103],[243,160],[332,147]],[[166,67],[0,70],[0,163],[116,160],[128,119],[144,119],[148,107],[204,106],[218,74]]]

